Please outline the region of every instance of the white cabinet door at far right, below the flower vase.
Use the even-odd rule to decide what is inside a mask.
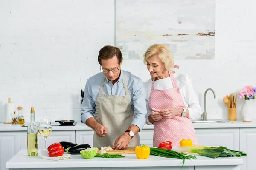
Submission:
[[[244,164],[241,170],[256,170],[255,157],[256,153],[256,128],[240,128],[240,150],[247,153],[247,157],[243,157]]]

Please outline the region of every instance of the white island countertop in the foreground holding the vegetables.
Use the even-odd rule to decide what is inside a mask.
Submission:
[[[184,166],[235,166],[243,164],[239,157],[208,158],[196,155],[197,159],[185,159]],[[71,159],[53,161],[41,159],[40,156],[27,156],[27,150],[20,150],[6,162],[6,168],[85,168],[85,167],[180,167],[182,159],[170,159],[150,155],[148,159],[137,159],[136,155],[125,155],[125,158],[93,158],[84,159],[81,155],[72,155]],[[114,164],[114,165],[113,165]],[[130,169],[130,168],[129,168]],[[193,169],[194,170],[194,169]]]

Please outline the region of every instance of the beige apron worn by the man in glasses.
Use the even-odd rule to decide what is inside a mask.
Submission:
[[[108,134],[99,137],[94,131],[93,147],[114,146],[116,138],[125,133],[131,126],[134,111],[131,107],[131,97],[128,92],[125,75],[122,76],[126,96],[102,94],[105,75],[99,88],[99,95],[96,101],[95,119],[97,122],[108,128]],[[128,147],[140,146],[139,133],[129,141]]]

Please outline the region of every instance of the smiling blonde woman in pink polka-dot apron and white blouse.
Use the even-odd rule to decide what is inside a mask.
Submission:
[[[147,104],[147,124],[154,124],[153,147],[172,141],[191,139],[197,144],[191,119],[202,114],[192,86],[192,79],[177,70],[173,55],[164,44],[151,45],[144,54],[144,63],[151,79],[144,83]]]

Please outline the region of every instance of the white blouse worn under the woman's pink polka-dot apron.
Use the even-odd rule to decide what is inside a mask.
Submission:
[[[192,79],[187,74],[179,74],[178,71],[175,71],[173,75],[176,80],[177,86],[180,90],[180,94],[183,98],[184,105],[186,109],[189,110],[189,118],[190,119],[199,118],[202,115],[202,110],[192,85]],[[147,82],[143,83],[146,91],[146,105],[147,105],[147,122],[146,123],[148,125],[153,125],[150,122],[148,122],[148,115],[151,114],[151,110],[148,107],[148,99],[150,96],[152,83],[153,83],[152,79],[149,79]],[[159,79],[154,83],[154,90],[156,89],[166,90],[169,88],[173,88],[172,79],[170,77]]]

